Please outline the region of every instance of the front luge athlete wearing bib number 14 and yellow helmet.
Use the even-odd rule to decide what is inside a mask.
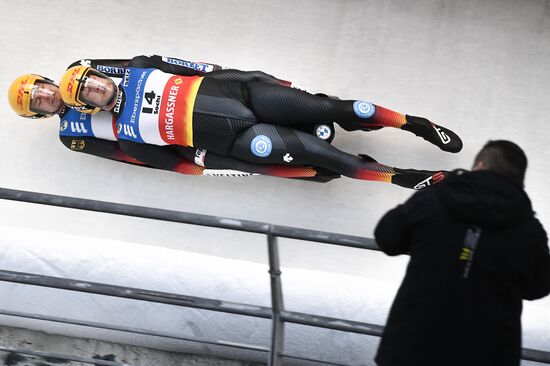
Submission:
[[[347,130],[394,127],[444,151],[462,148],[455,133],[425,118],[360,100],[323,98],[261,72],[174,74],[138,56],[118,85],[95,70],[74,67],[63,75],[60,90],[69,105],[112,112],[122,150],[159,168],[172,164],[165,146],[193,146],[247,163],[310,166],[421,189],[447,172],[393,168],[345,153],[324,141],[333,134],[326,125],[315,130],[317,136],[304,131],[332,121]]]

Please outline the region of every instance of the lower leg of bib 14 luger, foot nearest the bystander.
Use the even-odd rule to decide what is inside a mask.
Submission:
[[[368,156],[338,150],[313,135],[283,126],[257,124],[240,135],[231,156],[257,164],[320,167],[350,178],[373,180],[420,189],[445,178],[445,171],[399,169]]]

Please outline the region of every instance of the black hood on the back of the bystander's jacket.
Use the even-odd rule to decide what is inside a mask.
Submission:
[[[489,170],[455,171],[437,193],[454,216],[476,226],[499,227],[533,217],[523,188]]]

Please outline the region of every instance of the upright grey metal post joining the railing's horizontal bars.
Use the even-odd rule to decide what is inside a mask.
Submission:
[[[283,289],[281,285],[281,269],[279,266],[279,248],[277,237],[272,234],[271,225],[267,233],[267,248],[269,257],[269,275],[271,278],[271,307],[273,321],[271,328],[271,348],[268,366],[283,365],[284,321],[281,319],[283,306]]]

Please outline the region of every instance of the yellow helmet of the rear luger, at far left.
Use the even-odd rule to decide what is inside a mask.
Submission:
[[[51,117],[55,113],[48,113],[44,111],[31,110],[31,99],[33,97],[34,90],[36,89],[36,82],[52,84],[57,86],[51,79],[37,74],[25,74],[15,79],[8,90],[8,100],[11,108],[20,115],[26,118],[45,118]]]

